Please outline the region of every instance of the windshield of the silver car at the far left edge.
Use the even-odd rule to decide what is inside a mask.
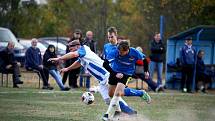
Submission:
[[[8,42],[8,41],[16,42],[17,40],[10,31],[0,30],[0,42]]]

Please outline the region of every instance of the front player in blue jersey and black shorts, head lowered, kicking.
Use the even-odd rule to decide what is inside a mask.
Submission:
[[[136,49],[130,48],[127,41],[121,41],[117,49],[113,49],[109,52],[108,56],[111,57],[111,68],[109,78],[109,95],[113,95],[107,112],[103,116],[103,120],[109,120],[109,114],[113,107],[117,112],[121,112],[119,106],[119,100],[122,96],[139,96],[147,103],[151,102],[151,97],[144,90],[135,90],[131,88],[125,88],[126,83],[134,74],[135,63],[142,61],[143,55]],[[149,77],[148,72],[145,72],[146,78]]]

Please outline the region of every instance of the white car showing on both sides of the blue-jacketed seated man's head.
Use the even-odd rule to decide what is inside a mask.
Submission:
[[[26,50],[31,47],[31,40],[19,38],[19,43],[22,44]],[[44,55],[47,47],[40,42],[37,43],[37,47],[40,49],[41,54]]]

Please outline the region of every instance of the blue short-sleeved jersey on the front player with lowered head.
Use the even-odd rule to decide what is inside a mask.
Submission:
[[[111,68],[115,72],[133,75],[135,72],[136,61],[142,60],[144,55],[136,49],[130,48],[129,53],[125,56],[120,56],[118,49],[112,50],[108,56],[113,58]]]

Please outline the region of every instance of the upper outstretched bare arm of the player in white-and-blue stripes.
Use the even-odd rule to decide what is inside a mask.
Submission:
[[[77,51],[75,51],[75,52],[69,52],[69,53],[67,53],[61,57],[58,57],[58,58],[50,58],[48,61],[68,60],[68,59],[75,58],[78,56],[79,56],[79,53]]]

